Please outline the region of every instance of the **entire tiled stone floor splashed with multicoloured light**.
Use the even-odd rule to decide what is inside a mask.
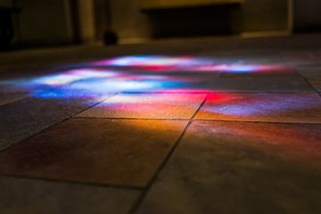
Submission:
[[[321,35],[0,53],[0,212],[321,213]]]

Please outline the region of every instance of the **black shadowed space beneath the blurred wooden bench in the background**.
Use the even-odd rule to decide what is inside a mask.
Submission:
[[[241,32],[241,5],[145,9],[152,21],[152,37],[191,37]]]

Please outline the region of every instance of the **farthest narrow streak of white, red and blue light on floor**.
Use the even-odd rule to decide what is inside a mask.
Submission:
[[[281,65],[251,65],[237,64],[238,61],[230,60],[223,63],[215,58],[201,57],[170,57],[170,56],[124,56],[103,62],[93,62],[93,66],[116,66],[120,68],[132,67],[145,71],[208,71],[226,73],[255,73],[259,75],[295,75],[295,71]],[[276,74],[276,72],[278,74]],[[241,74],[239,74],[241,75]],[[228,74],[226,75],[228,76]]]

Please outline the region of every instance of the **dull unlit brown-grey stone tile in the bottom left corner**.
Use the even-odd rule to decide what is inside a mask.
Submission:
[[[126,214],[140,191],[19,177],[0,177],[2,214]]]

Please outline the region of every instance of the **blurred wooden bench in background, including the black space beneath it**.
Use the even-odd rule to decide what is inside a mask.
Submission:
[[[145,0],[153,37],[235,34],[241,31],[243,0]]]

